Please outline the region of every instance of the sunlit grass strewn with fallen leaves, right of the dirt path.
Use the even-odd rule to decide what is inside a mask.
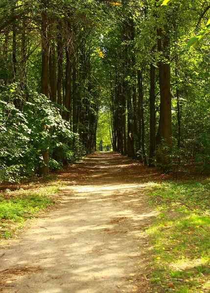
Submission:
[[[154,292],[210,292],[210,180],[149,183]]]

